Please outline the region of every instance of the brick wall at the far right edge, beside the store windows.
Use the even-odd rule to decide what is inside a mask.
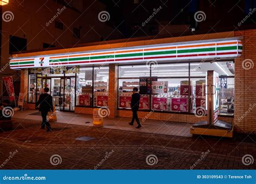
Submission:
[[[256,64],[256,30],[235,31],[235,36],[243,37],[242,55],[235,59],[235,131],[255,134],[256,107],[252,105],[256,103],[256,66],[252,68],[249,63],[252,60]]]

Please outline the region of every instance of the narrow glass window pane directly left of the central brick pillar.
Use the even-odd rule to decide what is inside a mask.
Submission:
[[[109,67],[94,67],[93,97],[95,107],[107,107],[109,95]]]

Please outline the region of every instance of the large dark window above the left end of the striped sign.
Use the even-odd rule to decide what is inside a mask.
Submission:
[[[27,40],[25,38],[10,36],[9,41],[9,54],[26,51]]]

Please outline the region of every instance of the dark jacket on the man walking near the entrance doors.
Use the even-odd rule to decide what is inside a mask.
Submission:
[[[39,105],[39,111],[53,111],[52,97],[48,93],[43,93],[39,96],[37,106]]]

